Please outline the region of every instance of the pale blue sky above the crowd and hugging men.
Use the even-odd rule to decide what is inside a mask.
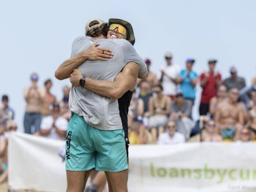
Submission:
[[[91,17],[121,18],[131,22],[135,48],[152,60],[152,71],[165,66],[164,53],[172,52],[174,62],[185,67],[188,57],[196,59],[194,70],[207,70],[207,60],[219,60],[224,78],[234,65],[249,85],[256,76],[256,1],[2,1],[0,6],[0,95],[7,93],[16,111],[20,130],[25,111],[23,89],[29,75],[39,74],[39,85],[53,80],[52,92],[61,99],[63,85],[54,71],[70,56],[75,37],[84,34]],[[197,99],[200,99],[197,88]],[[198,102],[196,102],[197,105]],[[194,109],[194,117],[198,108]]]

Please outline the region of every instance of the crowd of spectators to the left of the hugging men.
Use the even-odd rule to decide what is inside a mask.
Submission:
[[[65,140],[70,111],[68,98],[70,88],[64,86],[63,99],[57,101],[50,90],[52,82],[46,80],[44,88],[37,85],[38,75],[31,75],[31,85],[24,89],[26,101],[24,115],[24,132],[51,139]],[[2,96],[0,111],[0,184],[7,181],[8,135],[17,130],[14,122],[14,110],[8,105],[8,96]]]

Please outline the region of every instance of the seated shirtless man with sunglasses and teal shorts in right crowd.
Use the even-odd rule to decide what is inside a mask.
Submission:
[[[215,120],[223,139],[238,140],[243,128],[243,105],[238,102],[238,97],[239,90],[231,88],[228,99],[217,106]]]

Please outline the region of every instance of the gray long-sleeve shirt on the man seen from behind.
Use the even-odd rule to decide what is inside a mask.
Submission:
[[[124,39],[93,40],[91,37],[78,37],[72,44],[71,57],[87,49],[91,44],[99,43],[99,47],[109,48],[114,53],[108,61],[86,60],[77,69],[83,76],[95,80],[114,81],[115,76],[129,62],[135,62],[139,66],[139,75],[147,74],[147,67],[143,59],[138,55],[134,47]],[[116,130],[122,129],[122,122],[118,109],[118,100],[98,95],[89,89],[77,86],[70,91],[70,110],[98,129]]]

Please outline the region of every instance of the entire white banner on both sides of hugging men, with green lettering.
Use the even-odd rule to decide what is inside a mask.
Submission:
[[[12,133],[8,148],[8,185],[12,189],[64,192],[65,141]],[[130,192],[256,191],[255,143],[131,145]]]

